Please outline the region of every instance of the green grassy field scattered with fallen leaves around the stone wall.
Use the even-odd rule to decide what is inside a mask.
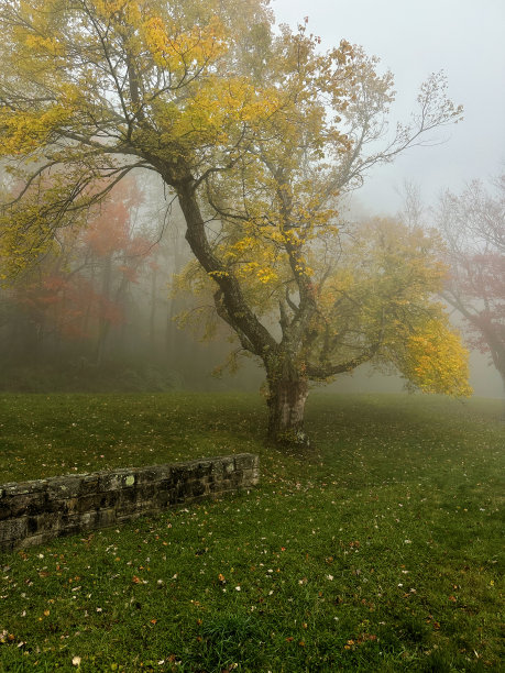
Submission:
[[[1,395],[0,482],[252,451],[233,498],[0,561],[1,671],[499,671],[499,402]],[[3,633],[3,635],[2,635]]]

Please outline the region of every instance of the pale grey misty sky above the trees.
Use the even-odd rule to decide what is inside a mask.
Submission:
[[[432,201],[505,169],[505,0],[272,0],[272,8],[293,29],[308,16],[327,48],[345,38],[378,56],[395,76],[393,122],[407,120],[420,82],[441,69],[451,99],[464,106],[464,121],[439,132],[446,143],[414,147],[370,175],[359,198],[371,214],[399,209],[404,179]]]

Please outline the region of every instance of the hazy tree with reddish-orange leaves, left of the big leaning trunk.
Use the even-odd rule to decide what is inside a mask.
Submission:
[[[33,361],[42,357],[45,342],[54,347],[65,338],[95,342],[92,358],[101,363],[111,327],[125,322],[129,288],[155,250],[135,230],[141,198],[134,180],[125,178],[88,212],[85,229],[58,233],[58,254],[45,255],[12,286],[17,346]]]

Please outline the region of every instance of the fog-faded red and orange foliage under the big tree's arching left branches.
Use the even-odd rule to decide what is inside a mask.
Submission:
[[[14,301],[33,321],[70,339],[91,338],[103,321],[122,324],[125,288],[139,282],[154,252],[153,243],[134,231],[132,213],[141,201],[134,180],[116,186],[86,230],[64,232],[64,253],[45,260],[37,280],[15,289]]]

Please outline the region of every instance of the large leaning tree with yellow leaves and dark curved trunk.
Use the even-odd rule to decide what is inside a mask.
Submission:
[[[320,53],[306,25],[276,35],[263,0],[0,0],[0,148],[11,172],[23,161],[25,179],[0,222],[9,271],[107,196],[109,187],[90,190],[97,176],[112,186],[133,168],[158,173],[215,284],[217,313],[265,367],[271,439],[304,442],[309,380],[393,353],[388,299],[362,310],[360,284],[354,304],[328,299],[339,275],[336,200],[460,117],[443,77],[421,86],[418,112],[387,140],[391,74],[344,41]],[[47,172],[54,186],[43,189]],[[406,287],[419,272],[417,253],[411,261]],[[416,306],[426,305],[416,288]],[[338,339],[341,307],[353,342]],[[443,319],[428,310],[420,324],[422,315],[405,339],[424,334],[428,347]],[[394,349],[396,363],[405,347]],[[464,364],[457,369],[444,391],[461,390]],[[421,383],[422,367],[414,371]]]

